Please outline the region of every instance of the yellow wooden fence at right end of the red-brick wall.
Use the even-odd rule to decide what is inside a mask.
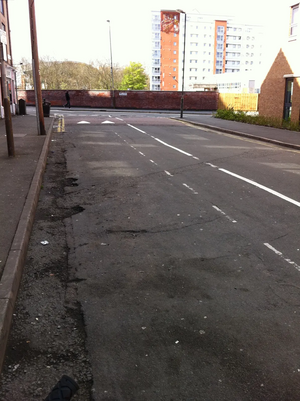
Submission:
[[[224,110],[233,108],[241,111],[258,110],[257,93],[220,93],[218,109]]]

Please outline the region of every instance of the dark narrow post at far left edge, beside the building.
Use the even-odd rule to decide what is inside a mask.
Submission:
[[[1,38],[1,42],[0,42],[1,88],[2,88],[2,104],[4,107],[7,151],[8,151],[8,156],[15,157],[15,144],[14,144],[12,122],[11,122],[10,101],[8,100],[8,97],[7,97],[7,87],[6,87],[6,66],[5,66],[3,54],[4,54],[3,53],[3,42],[2,42],[2,38]]]

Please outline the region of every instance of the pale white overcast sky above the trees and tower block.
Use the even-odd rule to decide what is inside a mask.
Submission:
[[[6,1],[13,63],[17,65],[23,57],[32,58],[28,0]],[[58,61],[110,63],[110,20],[113,64],[140,62],[149,70],[151,11],[183,9],[187,13],[217,13],[264,25],[266,57],[274,59],[280,37],[288,31],[290,5],[291,0],[35,0],[38,52],[40,58]]]

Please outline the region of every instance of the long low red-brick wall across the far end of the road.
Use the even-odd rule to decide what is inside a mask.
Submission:
[[[111,91],[69,90],[71,107],[113,108]],[[181,92],[114,91],[117,109],[179,110]],[[43,99],[51,106],[66,103],[64,90],[43,90]],[[35,105],[33,90],[18,90],[18,98],[29,106]],[[214,111],[218,108],[218,92],[185,92],[184,110]]]

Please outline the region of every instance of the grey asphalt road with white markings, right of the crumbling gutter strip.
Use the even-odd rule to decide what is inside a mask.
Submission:
[[[76,114],[68,236],[95,400],[298,400],[299,153]]]

